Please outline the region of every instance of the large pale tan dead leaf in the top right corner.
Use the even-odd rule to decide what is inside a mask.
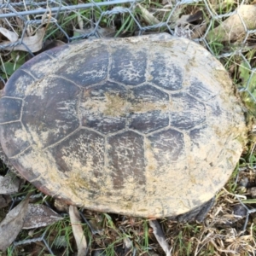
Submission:
[[[231,15],[227,20],[224,20],[219,26],[209,32],[207,39],[218,38],[219,41],[234,41],[241,38],[247,30],[256,29],[255,17],[256,5],[241,5],[237,9],[237,14]]]

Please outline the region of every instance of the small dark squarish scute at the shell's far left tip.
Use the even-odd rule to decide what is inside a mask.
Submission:
[[[21,99],[9,97],[3,97],[0,99],[0,124],[19,120],[21,107]]]

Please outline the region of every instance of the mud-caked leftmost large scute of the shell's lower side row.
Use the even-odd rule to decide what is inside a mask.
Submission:
[[[95,131],[80,129],[49,151],[73,189],[96,193],[104,185],[105,140]]]

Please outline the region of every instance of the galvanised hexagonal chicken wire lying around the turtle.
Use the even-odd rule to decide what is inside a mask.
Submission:
[[[18,40],[14,42],[2,42],[0,44],[1,55],[4,55],[9,50],[15,50],[15,47],[18,45],[23,45],[26,51],[30,55],[34,55],[29,45],[26,45],[24,38],[32,32],[37,32],[38,29],[43,26],[51,27],[51,30],[61,34],[61,40],[66,41],[67,43],[72,42],[73,40],[96,37],[104,37],[102,35],[102,20],[108,24],[108,26],[115,26],[114,20],[117,17],[122,18],[124,16],[129,16],[135,24],[135,29],[131,35],[141,35],[146,32],[169,32],[174,36],[191,38],[198,42],[199,44],[204,45],[212,54],[212,47],[207,38],[207,34],[210,32],[212,26],[218,20],[225,20],[232,15],[236,15],[238,9],[245,4],[242,1],[235,11],[230,11],[225,14],[218,14],[215,9],[212,9],[210,1],[207,0],[183,0],[183,1],[172,1],[169,0],[166,2],[165,8],[162,11],[165,13],[165,20],[160,20],[160,22],[153,22],[151,25],[150,22],[143,22],[143,19],[139,18],[137,15],[137,9],[140,8],[143,1],[136,0],[113,0],[113,1],[103,1],[95,2],[88,1],[88,3],[72,5],[71,3],[66,3],[64,1],[47,1],[47,2],[38,2],[38,1],[3,1],[0,0],[0,27],[4,27],[10,32],[20,32]],[[193,27],[189,22],[183,24],[177,24],[175,20],[178,20],[177,13],[178,10],[184,6],[195,6],[200,5],[204,7],[206,12],[204,16],[207,16],[208,22],[204,24],[202,20],[201,26],[205,26],[203,32],[199,37],[193,38]],[[84,15],[84,11],[86,15]],[[140,9],[142,12],[142,9]],[[90,13],[90,19],[88,14]],[[153,11],[154,13],[154,11]],[[79,27],[79,35],[75,33],[70,33],[67,31],[67,27],[63,24],[63,15],[72,16],[73,18],[73,27],[79,27],[79,19],[83,20],[82,26]],[[141,17],[141,16],[140,16]],[[240,16],[241,22],[244,26],[245,33],[243,38],[240,39],[239,44],[235,48],[230,48],[227,51],[221,51],[220,54],[216,55],[217,58],[230,58],[238,56],[244,61],[247,65],[248,74],[247,80],[243,81],[243,84],[240,88],[240,91],[246,91],[249,96],[253,99],[253,102],[256,102],[255,96],[253,95],[252,84],[254,80],[254,75],[256,73],[256,68],[252,67],[250,60],[247,59],[247,55],[244,53],[247,51],[247,38],[255,36],[256,30],[249,30],[245,22]],[[107,21],[106,21],[107,20]],[[65,22],[64,22],[65,23]],[[121,32],[123,33],[123,32]],[[49,35],[45,37],[44,42],[48,39]],[[1,64],[1,63],[0,63]],[[6,78],[0,77],[3,81]],[[256,87],[256,84],[253,84],[253,88]],[[249,213],[255,212],[253,209],[249,209],[243,205],[247,210],[247,218]],[[84,216],[82,216],[84,218]],[[247,219],[245,226],[247,224]],[[245,229],[244,226],[244,229]],[[43,241],[45,247],[48,248],[49,253],[52,253],[48,242],[44,239],[45,233],[35,239],[27,239],[25,241],[16,241],[15,246],[25,243],[32,243],[37,241]]]

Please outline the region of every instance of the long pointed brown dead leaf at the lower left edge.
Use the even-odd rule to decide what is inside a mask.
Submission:
[[[27,195],[25,200],[21,201],[17,207],[12,209],[1,222],[0,250],[6,250],[20,233],[27,212],[29,196]]]

